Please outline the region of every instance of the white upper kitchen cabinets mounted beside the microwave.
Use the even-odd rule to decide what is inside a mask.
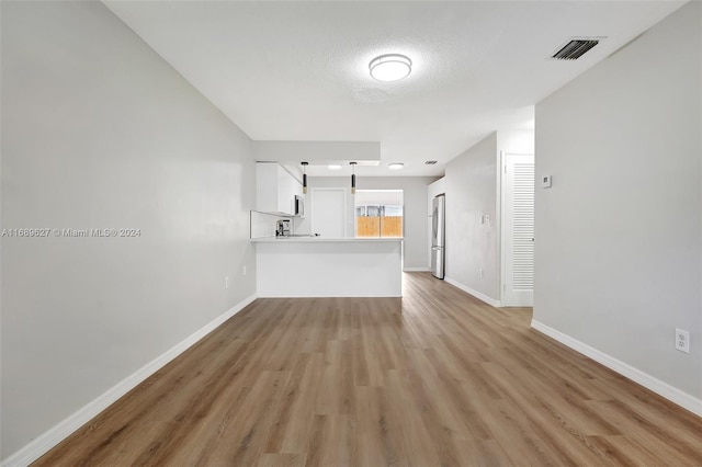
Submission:
[[[276,162],[256,164],[256,209],[262,213],[295,215],[295,195],[303,185]]]

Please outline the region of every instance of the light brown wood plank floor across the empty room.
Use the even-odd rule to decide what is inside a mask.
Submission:
[[[259,299],[39,466],[702,465],[702,419],[428,273]]]

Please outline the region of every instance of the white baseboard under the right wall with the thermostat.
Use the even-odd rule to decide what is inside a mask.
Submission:
[[[588,344],[578,341],[577,339],[573,339],[571,337],[564,334],[561,331],[556,331],[555,329],[544,324],[543,322],[532,320],[531,327],[536,331],[542,332],[550,338],[561,342],[562,344],[573,349],[574,351],[579,352],[598,363],[601,363],[602,365],[607,366],[610,369],[613,369],[620,375],[625,376],[635,383],[638,383],[645,388],[650,389],[652,391],[665,397],[669,401],[677,403],[683,409],[687,409],[690,412],[702,417],[701,399],[690,396],[689,394],[683,392],[680,389],[672,387],[669,384],[664,383],[660,379],[622,362],[621,360],[616,360],[613,356],[600,352],[599,350],[593,349]]]

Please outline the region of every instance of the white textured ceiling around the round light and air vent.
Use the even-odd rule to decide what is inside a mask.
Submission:
[[[104,3],[251,138],[381,141],[367,175],[439,175],[489,133],[533,127],[535,103],[682,4]],[[607,39],[577,61],[547,59],[571,36]],[[386,53],[409,56],[411,75],[371,78]],[[387,171],[395,161],[405,170]]]

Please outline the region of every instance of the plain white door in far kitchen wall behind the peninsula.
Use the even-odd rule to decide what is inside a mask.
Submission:
[[[312,189],[312,234],[327,238],[346,237],[347,190]]]

